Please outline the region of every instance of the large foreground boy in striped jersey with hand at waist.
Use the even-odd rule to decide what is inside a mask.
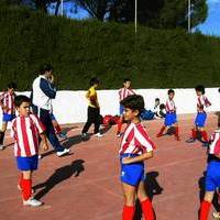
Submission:
[[[155,147],[140,121],[144,100],[142,96],[132,95],[120,103],[124,107],[124,119],[129,121],[119,151],[124,195],[122,220],[133,219],[136,198],[141,202],[144,218],[154,220],[152,202],[144,189],[144,161],[153,157]]]

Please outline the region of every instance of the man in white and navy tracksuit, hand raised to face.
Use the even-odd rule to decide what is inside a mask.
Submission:
[[[32,85],[32,108],[33,112],[38,116],[40,120],[46,128],[46,136],[52,146],[55,148],[57,156],[69,153],[69,148],[64,148],[56,138],[54,127],[50,117],[51,99],[56,97],[56,88],[54,86],[53,67],[45,64],[41,67],[40,76],[36,77]]]

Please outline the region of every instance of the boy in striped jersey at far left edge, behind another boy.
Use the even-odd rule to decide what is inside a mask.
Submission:
[[[15,108],[14,108],[14,89],[16,85],[11,82],[8,85],[8,91],[3,92],[0,96],[0,106],[2,108],[3,118],[2,118],[2,128],[0,131],[0,150],[4,148],[3,139],[7,131],[8,122],[12,121],[15,118]]]

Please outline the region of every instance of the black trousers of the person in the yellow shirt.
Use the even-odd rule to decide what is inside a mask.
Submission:
[[[88,118],[81,133],[87,133],[92,123],[95,124],[94,133],[96,134],[99,132],[100,127],[100,110],[99,108],[88,107]]]

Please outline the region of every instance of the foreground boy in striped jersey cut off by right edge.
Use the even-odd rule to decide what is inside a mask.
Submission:
[[[208,220],[215,191],[220,187],[220,130],[215,131],[210,142],[205,185],[206,193],[200,206],[199,220]]]

